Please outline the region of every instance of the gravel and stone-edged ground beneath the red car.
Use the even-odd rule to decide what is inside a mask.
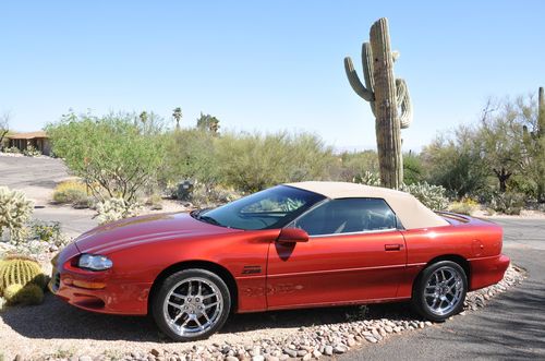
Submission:
[[[523,275],[510,267],[498,285],[469,293],[461,315],[485,306]],[[51,294],[39,306],[9,308],[0,316],[0,354],[7,360],[310,360],[440,327],[421,320],[407,303],[234,315],[219,334],[187,344],[169,341],[147,317],[88,313]]]

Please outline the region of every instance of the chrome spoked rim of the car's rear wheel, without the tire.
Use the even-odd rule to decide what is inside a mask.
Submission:
[[[427,279],[424,288],[424,299],[427,309],[439,316],[456,309],[462,296],[462,275],[450,266],[437,268]]]

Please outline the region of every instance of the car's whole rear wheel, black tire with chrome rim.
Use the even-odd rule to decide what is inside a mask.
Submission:
[[[450,276],[453,282],[447,281]],[[412,303],[423,317],[443,322],[462,311],[467,292],[468,277],[463,268],[456,262],[440,261],[427,266],[419,276],[413,287]],[[443,304],[445,308],[440,308]]]

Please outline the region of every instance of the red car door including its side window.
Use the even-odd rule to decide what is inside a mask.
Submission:
[[[304,229],[310,240],[269,248],[269,309],[396,298],[407,251],[384,200],[328,200],[288,227]]]

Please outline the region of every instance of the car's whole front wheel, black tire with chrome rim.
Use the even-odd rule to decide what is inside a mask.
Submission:
[[[203,291],[198,289],[199,284]],[[184,292],[184,290],[186,291]],[[206,291],[208,293],[202,293],[201,298],[197,294]],[[175,294],[183,296],[185,299]],[[166,305],[167,301],[170,303]],[[215,302],[217,305],[213,304]],[[152,300],[152,314],[155,323],[161,332],[175,341],[194,341],[209,337],[223,326],[230,311],[231,294],[226,282],[216,274],[198,268],[183,269],[168,276]],[[210,314],[205,316],[204,313],[207,312]],[[173,318],[178,321],[172,324]],[[206,329],[198,330],[198,325],[207,323],[207,320],[214,322]],[[187,324],[182,326],[181,324],[185,322]],[[194,333],[190,332],[191,325],[195,329]]]

